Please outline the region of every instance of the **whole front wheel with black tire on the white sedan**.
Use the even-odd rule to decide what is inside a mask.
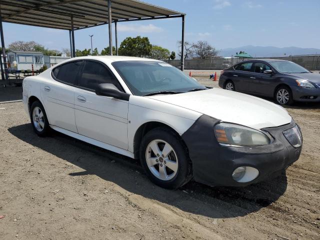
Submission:
[[[164,188],[178,188],[192,177],[186,147],[178,135],[166,127],[154,128],[144,135],[140,162],[150,180]]]

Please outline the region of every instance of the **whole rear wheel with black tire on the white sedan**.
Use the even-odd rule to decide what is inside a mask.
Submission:
[[[30,119],[34,132],[38,136],[46,136],[50,131],[45,110],[40,101],[34,101],[30,107]]]

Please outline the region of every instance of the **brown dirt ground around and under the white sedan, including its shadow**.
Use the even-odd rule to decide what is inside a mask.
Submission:
[[[287,110],[304,144],[282,175],[166,190],[135,160],[57,132],[36,136],[21,102],[2,103],[0,239],[320,239],[320,105]]]

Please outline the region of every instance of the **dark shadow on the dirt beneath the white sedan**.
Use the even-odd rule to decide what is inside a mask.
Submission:
[[[49,137],[38,137],[33,133],[30,123],[11,127],[8,131],[22,141],[84,169],[81,172],[70,172],[70,176],[94,174],[129,192],[175,206],[185,212],[212,218],[243,216],[262,207],[272,207],[270,204],[287,187],[283,172],[274,179],[247,187],[209,187],[191,181],[180,189],[167,190],[153,185],[143,173],[139,173],[142,172],[140,164],[131,158],[58,132],[52,132]],[[86,157],[81,157],[83,155]],[[116,163],[111,163],[112,159]]]

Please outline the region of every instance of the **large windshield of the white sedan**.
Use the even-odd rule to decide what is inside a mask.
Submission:
[[[160,61],[115,61],[113,67],[134,95],[206,89],[174,66]]]

